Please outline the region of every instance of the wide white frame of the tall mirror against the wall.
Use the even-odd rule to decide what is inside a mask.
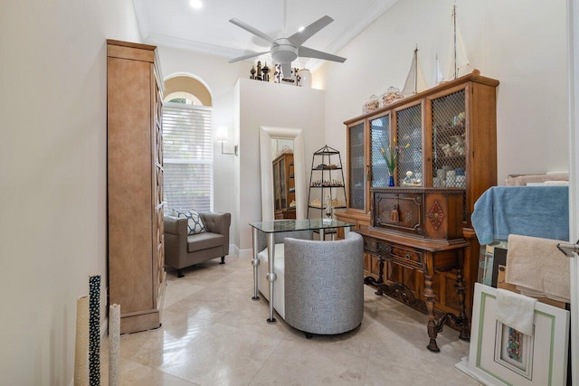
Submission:
[[[305,219],[306,173],[302,130],[300,128],[260,127],[261,221],[270,221],[275,218],[271,141],[276,139],[293,141],[296,219]]]

